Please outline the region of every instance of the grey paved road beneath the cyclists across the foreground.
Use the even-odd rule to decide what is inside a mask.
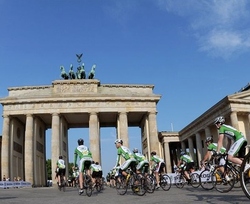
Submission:
[[[210,203],[210,204],[244,204],[250,200],[241,191],[233,189],[229,193],[219,193],[216,190],[205,191],[202,188],[184,186],[183,189],[172,187],[169,191],[157,190],[153,194],[144,196],[133,195],[128,191],[126,195],[118,195],[115,189],[106,187],[103,192],[93,192],[91,197],[79,196],[76,188],[67,188],[60,192],[57,188],[21,188],[0,189],[1,204],[180,204],[180,203]]]

